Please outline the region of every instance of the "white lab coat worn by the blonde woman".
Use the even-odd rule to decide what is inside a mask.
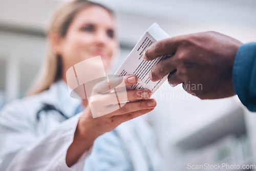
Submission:
[[[69,119],[56,111],[41,112],[38,124],[36,114],[42,103],[54,105]],[[75,111],[80,104],[81,100],[69,97],[67,84],[58,81],[47,91],[6,105],[0,112],[0,171],[143,171],[148,170],[148,160],[154,170],[162,170],[160,156],[152,143],[152,130],[141,117],[122,123],[113,132],[97,138],[93,147],[76,164],[68,167],[66,154],[73,141],[80,116],[75,115]],[[135,136],[133,132],[136,130]],[[141,150],[143,145],[136,143],[138,137],[149,158],[145,157],[145,149]]]

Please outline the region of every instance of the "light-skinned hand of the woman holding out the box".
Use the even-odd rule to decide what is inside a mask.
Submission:
[[[149,99],[151,92],[149,90],[127,90],[125,87],[118,87],[115,91],[108,91],[115,88],[123,82],[123,86],[132,86],[137,82],[137,77],[133,75],[119,78],[112,78],[110,81],[101,81],[97,83],[90,93],[89,103],[86,110],[83,111],[74,136],[74,141],[68,149],[66,162],[72,166],[80,156],[87,151],[94,140],[106,133],[114,130],[119,124],[146,114],[154,110],[156,106],[155,99]],[[122,83],[121,83],[122,85]],[[127,96],[126,96],[126,93]],[[88,91],[87,91],[88,93]],[[118,96],[118,100],[116,95]],[[125,94],[125,97],[123,96]],[[122,103],[128,101],[126,103]],[[121,107],[121,108],[120,108]],[[115,110],[116,109],[116,110]],[[114,111],[115,110],[115,111]],[[92,112],[93,111],[93,112]],[[102,115],[93,118],[97,115]]]

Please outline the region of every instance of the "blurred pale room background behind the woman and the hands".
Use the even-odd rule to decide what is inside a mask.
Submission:
[[[144,31],[157,22],[170,36],[218,31],[256,41],[254,0],[94,0],[116,12],[121,54],[117,67]],[[62,1],[0,1],[0,108],[22,98],[46,52],[45,28]],[[210,78],[209,78],[210,79]],[[164,84],[150,114],[168,170],[188,163],[256,164],[256,114],[238,97],[200,100]]]

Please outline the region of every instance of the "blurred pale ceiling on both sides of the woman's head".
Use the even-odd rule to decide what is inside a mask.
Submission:
[[[133,46],[154,22],[170,35],[216,30],[242,41],[256,39],[253,0],[92,0],[116,12],[122,44]],[[1,0],[0,26],[43,32],[61,3],[54,0]]]

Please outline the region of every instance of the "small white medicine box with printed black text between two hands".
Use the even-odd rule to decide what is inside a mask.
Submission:
[[[164,76],[159,81],[153,82],[148,76],[148,73],[152,70],[152,68],[165,56],[158,57],[151,61],[145,61],[142,58],[142,53],[144,52],[146,47],[150,46],[155,41],[157,41],[154,38],[154,35],[148,33],[148,32],[154,33],[154,31],[156,31],[156,33],[158,34],[158,37],[159,37],[159,34],[161,34],[161,32],[163,32],[162,37],[164,38],[169,37],[167,33],[165,33],[159,27],[159,25],[153,24],[152,27],[148,29],[148,31],[142,36],[142,38],[139,40],[137,45],[134,47],[131,53],[127,56],[125,61],[122,63],[121,67],[115,73],[115,75],[119,75],[119,76],[135,75],[138,77],[138,82],[133,86],[127,87],[128,90],[148,89],[152,93],[154,93],[161,86],[161,84],[167,79],[168,75]]]

